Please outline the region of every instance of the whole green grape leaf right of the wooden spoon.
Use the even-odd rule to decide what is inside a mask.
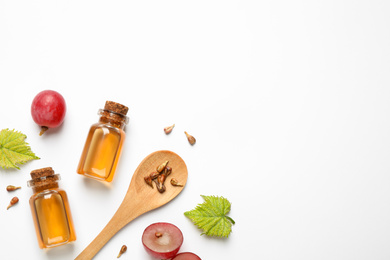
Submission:
[[[231,204],[224,197],[204,196],[202,204],[198,204],[195,209],[184,212],[184,215],[207,236],[228,237],[232,232],[234,220],[228,216]]]

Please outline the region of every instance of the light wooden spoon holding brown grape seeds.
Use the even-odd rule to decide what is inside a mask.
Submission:
[[[172,173],[165,181],[166,191],[159,193],[154,185],[152,189],[144,177],[156,171],[157,166],[165,161],[172,168]],[[124,226],[136,217],[161,207],[175,198],[187,182],[187,166],[183,159],[171,151],[157,151],[148,155],[135,170],[129,189],[118,210],[99,235],[75,258],[92,259],[100,249]],[[170,179],[175,178],[183,187],[172,186]]]

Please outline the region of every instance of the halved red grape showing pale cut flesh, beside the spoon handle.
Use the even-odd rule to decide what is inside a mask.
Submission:
[[[145,229],[142,244],[149,255],[159,259],[170,259],[179,252],[183,244],[183,234],[173,224],[154,223]]]

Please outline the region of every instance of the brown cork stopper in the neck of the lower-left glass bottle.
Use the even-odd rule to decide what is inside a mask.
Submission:
[[[27,182],[27,186],[35,191],[58,187],[57,181],[60,180],[60,175],[54,174],[51,167],[33,170],[30,175],[32,180]]]

